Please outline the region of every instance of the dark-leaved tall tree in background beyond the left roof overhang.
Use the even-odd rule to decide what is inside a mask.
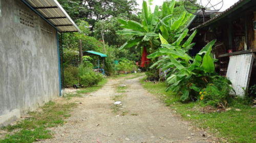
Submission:
[[[73,19],[89,22],[93,30],[95,22],[126,14],[127,17],[137,12],[136,0],[58,0]]]

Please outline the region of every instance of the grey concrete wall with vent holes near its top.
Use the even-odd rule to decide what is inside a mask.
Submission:
[[[17,0],[0,0],[0,126],[59,95],[56,30]]]

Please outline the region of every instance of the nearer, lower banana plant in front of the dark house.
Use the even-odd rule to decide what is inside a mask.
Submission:
[[[197,99],[200,90],[211,80],[215,72],[214,62],[211,49],[216,40],[209,42],[202,50],[193,58],[188,55],[188,49],[192,48],[195,43],[191,43],[196,35],[196,31],[181,45],[188,30],[184,30],[179,38],[172,44],[159,34],[161,40],[161,48],[155,53],[148,55],[148,58],[163,58],[154,63],[151,68],[157,66],[163,70],[172,69],[167,75],[166,82],[168,87],[166,91],[172,91],[181,95],[180,99],[186,101],[188,99]]]

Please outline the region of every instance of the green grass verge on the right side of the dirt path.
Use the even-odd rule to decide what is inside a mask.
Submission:
[[[228,142],[253,143],[256,139],[256,109],[234,100],[230,104],[231,110],[223,112],[201,113],[200,102],[180,103],[178,97],[171,92],[166,93],[164,82],[140,81],[148,92],[157,95],[167,106],[174,109],[184,119],[193,121],[195,125],[209,129],[219,138],[225,138]],[[236,108],[241,109],[237,111]],[[191,117],[188,117],[190,115]]]

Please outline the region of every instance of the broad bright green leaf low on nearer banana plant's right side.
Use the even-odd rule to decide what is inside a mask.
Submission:
[[[209,54],[204,55],[201,68],[206,73],[215,72],[214,60],[211,58],[211,56]]]

